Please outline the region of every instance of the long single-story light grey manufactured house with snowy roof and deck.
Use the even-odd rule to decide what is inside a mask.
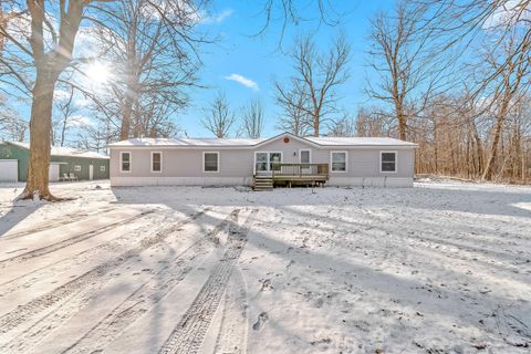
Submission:
[[[133,138],[110,144],[111,185],[413,186],[416,144],[388,137]]]

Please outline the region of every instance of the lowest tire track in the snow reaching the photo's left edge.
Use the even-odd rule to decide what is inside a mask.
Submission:
[[[202,216],[206,210],[198,211],[187,218],[179,221],[176,225],[163,229],[155,236],[148,236],[140,240],[139,244],[133,249],[127,250],[117,257],[117,259],[110,260],[103,264],[100,264],[84,274],[71,280],[70,282],[56,288],[55,290],[33,299],[24,305],[20,305],[15,310],[2,315],[0,317],[0,334],[4,334],[20,325],[21,323],[29,321],[38,313],[49,309],[50,306],[59,303],[73,295],[75,292],[84,288],[95,288],[102,281],[102,278],[111,270],[122,266],[128,259],[138,256],[142,251],[150,248],[154,244],[159,243],[173,232],[178,231],[184,225],[192,222],[198,217]]]

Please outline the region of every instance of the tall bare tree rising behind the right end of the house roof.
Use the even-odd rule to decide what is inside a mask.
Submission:
[[[424,110],[445,71],[429,49],[433,30],[424,25],[424,14],[425,8],[402,1],[393,14],[372,21],[369,67],[378,80],[367,77],[366,92],[388,107],[403,140],[408,119]]]

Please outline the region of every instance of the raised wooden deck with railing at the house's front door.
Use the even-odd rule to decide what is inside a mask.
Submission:
[[[263,180],[264,176],[257,178]],[[270,171],[272,185],[323,185],[329,180],[327,164],[273,164]]]

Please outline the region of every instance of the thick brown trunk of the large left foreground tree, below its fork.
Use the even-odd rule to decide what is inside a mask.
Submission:
[[[30,166],[28,181],[22,194],[23,199],[39,197],[45,200],[59,200],[50,192],[49,168],[52,128],[53,90],[56,76],[51,73],[37,73],[33,86],[30,121]]]

